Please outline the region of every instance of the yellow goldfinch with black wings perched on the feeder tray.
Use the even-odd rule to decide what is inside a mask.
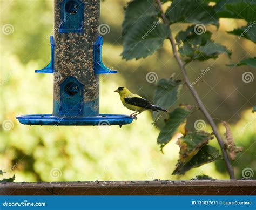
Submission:
[[[151,104],[149,101],[142,98],[141,96],[131,93],[126,87],[118,87],[118,89],[114,92],[119,93],[120,99],[127,109],[135,111],[130,115],[130,117],[135,117],[135,119],[137,119],[136,116],[138,114],[142,113],[145,110],[152,110],[156,112],[161,110],[167,112],[167,110]]]

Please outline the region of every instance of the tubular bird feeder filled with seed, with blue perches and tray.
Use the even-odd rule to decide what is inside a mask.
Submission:
[[[117,73],[102,62],[99,0],[54,0],[51,61],[53,113],[17,116],[25,125],[125,125],[133,117],[99,114],[99,74]]]

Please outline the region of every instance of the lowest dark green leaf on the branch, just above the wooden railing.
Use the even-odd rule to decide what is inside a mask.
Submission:
[[[184,174],[186,171],[191,168],[197,168],[201,165],[207,164],[214,160],[221,159],[221,155],[217,148],[210,145],[203,146],[193,158],[190,159],[186,164],[178,161],[175,170],[172,172],[173,175]]]

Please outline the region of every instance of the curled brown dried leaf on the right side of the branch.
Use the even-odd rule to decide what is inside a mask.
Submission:
[[[221,120],[221,124],[225,127],[226,133],[224,133],[225,140],[224,145],[225,148],[228,150],[228,153],[230,155],[230,159],[234,160],[235,157],[237,157],[238,152],[242,152],[242,147],[235,146],[234,144],[234,138],[230,129],[230,126],[226,121]]]

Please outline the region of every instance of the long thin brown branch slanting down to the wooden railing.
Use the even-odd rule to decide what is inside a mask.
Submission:
[[[160,0],[156,0],[156,3],[158,5],[158,8],[159,8],[159,11],[160,11],[160,15],[161,15],[161,19],[163,19],[163,22],[166,26],[169,27],[169,22],[167,21],[167,19],[165,18],[165,15],[164,15],[164,11],[163,11],[163,7],[162,7],[162,4],[161,4],[161,1]],[[191,86],[190,84],[190,80],[188,79],[188,76],[187,76],[187,72],[186,72],[186,69],[185,69],[185,65],[184,63],[182,62],[182,60],[180,59],[179,55],[178,55],[178,52],[177,52],[177,49],[176,49],[176,41],[173,39],[172,37],[172,33],[171,33],[171,29],[169,27],[169,30],[170,30],[170,34],[168,36],[168,39],[170,40],[171,42],[171,45],[172,45],[172,51],[173,51],[173,55],[174,57],[176,58],[178,64],[179,64],[179,67],[183,73],[183,76],[185,78],[185,82],[186,82],[186,85],[188,87],[188,89],[190,90],[191,94],[193,95],[194,99],[196,99],[197,101],[197,104],[201,110],[201,112],[203,112],[205,118],[208,120],[208,123],[211,125],[212,127],[212,130],[213,130],[213,133],[215,135],[215,137],[217,138],[218,140],[218,143],[220,145],[220,149],[221,149],[221,152],[223,154],[223,159],[225,161],[225,164],[227,166],[227,170],[228,170],[228,173],[230,175],[230,179],[235,179],[234,177],[234,170],[233,170],[233,167],[231,166],[230,164],[230,160],[228,158],[228,155],[227,155],[227,151],[225,150],[225,146],[224,146],[224,143],[223,143],[223,140],[221,139],[221,136],[219,134],[219,131],[218,131],[218,128],[217,126],[215,125],[212,117],[210,116],[210,114],[208,113],[208,111],[206,110],[203,102],[201,101],[201,99],[199,98],[198,96],[198,93],[197,91],[193,88],[193,86]]]

